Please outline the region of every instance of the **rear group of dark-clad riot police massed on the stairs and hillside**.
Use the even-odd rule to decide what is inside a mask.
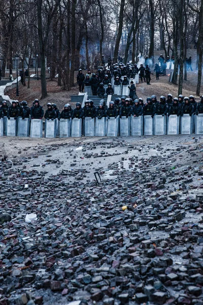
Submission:
[[[179,60],[179,59],[178,59]],[[156,80],[159,80],[159,76],[166,75],[166,69],[171,69],[172,64],[174,64],[175,57],[167,56],[165,59],[162,54],[158,57],[158,62],[155,63],[153,72],[156,74]],[[191,56],[186,58],[187,70],[191,69]],[[139,74],[139,78],[141,82],[146,82],[147,85],[150,85],[151,75],[153,75],[151,71],[152,60],[146,56],[144,58],[144,63],[140,65],[138,68],[137,64],[127,63],[124,65],[122,61],[119,63],[112,64],[112,59],[109,57],[107,65],[105,62],[104,66],[98,66],[96,73],[91,73],[91,70],[88,70],[86,75],[83,74],[82,69],[79,69],[77,75],[77,83],[79,85],[80,92],[83,92],[84,87],[91,87],[92,95],[99,96],[100,98],[104,98],[105,93],[107,95],[114,93],[114,85],[131,85],[133,84],[132,79]],[[121,77],[124,77],[121,78]],[[112,81],[113,79],[113,81]],[[130,82],[131,79],[131,82]],[[108,85],[108,88],[105,90],[104,85]],[[134,95],[134,88],[131,95]],[[87,92],[87,89],[86,89]],[[136,96],[134,96],[135,98]]]

